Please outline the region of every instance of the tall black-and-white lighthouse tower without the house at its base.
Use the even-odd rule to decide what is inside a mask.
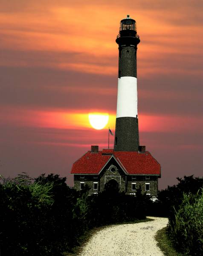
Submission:
[[[119,45],[118,96],[114,151],[138,151],[137,45],[136,21],[127,15],[121,20],[116,43]]]

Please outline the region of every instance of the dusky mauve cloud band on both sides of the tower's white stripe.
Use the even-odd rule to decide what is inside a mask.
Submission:
[[[87,111],[97,108],[116,112],[116,76],[43,67],[0,67],[0,74],[3,105]],[[105,95],[109,88],[114,89],[113,95]],[[139,76],[139,113],[201,115],[202,90],[201,80],[187,74]],[[173,93],[171,97],[170,93]]]

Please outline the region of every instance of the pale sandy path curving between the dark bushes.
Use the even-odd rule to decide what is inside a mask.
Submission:
[[[163,256],[154,235],[166,227],[168,218],[106,227],[96,232],[79,256]]]

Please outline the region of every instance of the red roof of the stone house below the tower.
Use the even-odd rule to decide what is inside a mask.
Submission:
[[[73,163],[71,173],[98,175],[112,156],[128,174],[160,175],[161,173],[160,164],[148,151],[139,153],[137,151],[113,151],[113,149],[103,149],[98,153],[87,151],[84,156]]]

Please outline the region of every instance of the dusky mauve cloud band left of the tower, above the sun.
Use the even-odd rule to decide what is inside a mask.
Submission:
[[[116,95],[113,99],[105,96],[104,105],[104,96],[95,90],[91,92],[95,87],[105,90],[109,84],[116,88],[115,77],[46,68],[0,67],[0,83],[0,101],[4,105],[64,109],[102,109],[104,106],[111,109],[112,105],[116,106]],[[69,90],[64,92],[63,87]]]

